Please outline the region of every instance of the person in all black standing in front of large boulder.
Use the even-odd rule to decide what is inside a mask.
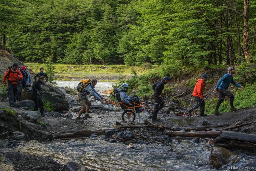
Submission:
[[[33,111],[37,111],[38,110],[38,107],[40,109],[40,113],[42,116],[45,116],[44,114],[44,103],[42,101],[42,98],[40,96],[40,88],[41,88],[41,83],[44,83],[44,77],[43,76],[40,76],[39,77],[39,80],[36,80],[34,81],[33,85],[32,85],[32,99],[35,103],[35,106],[34,106],[34,110]]]

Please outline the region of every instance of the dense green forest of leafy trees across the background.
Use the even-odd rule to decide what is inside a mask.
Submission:
[[[27,62],[255,62],[255,1],[2,0],[0,34]]]

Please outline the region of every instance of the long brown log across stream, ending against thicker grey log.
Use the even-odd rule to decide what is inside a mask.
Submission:
[[[164,135],[169,135],[171,137],[219,137],[221,131],[207,131],[207,132],[182,132],[182,131],[166,131],[163,132]]]

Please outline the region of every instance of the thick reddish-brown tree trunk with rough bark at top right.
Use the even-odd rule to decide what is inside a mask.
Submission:
[[[243,19],[244,19],[244,34],[243,34],[243,49],[244,49],[244,56],[248,63],[250,63],[250,55],[251,52],[249,50],[248,46],[248,39],[249,39],[249,25],[248,25],[248,13],[249,13],[249,0],[244,0],[244,13],[243,13]]]

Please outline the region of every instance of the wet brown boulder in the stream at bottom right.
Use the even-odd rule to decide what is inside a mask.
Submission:
[[[213,147],[209,160],[211,165],[219,169],[226,164],[234,165],[240,160],[240,157],[223,147]]]

